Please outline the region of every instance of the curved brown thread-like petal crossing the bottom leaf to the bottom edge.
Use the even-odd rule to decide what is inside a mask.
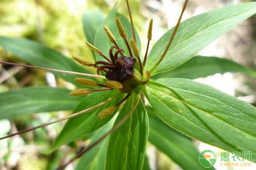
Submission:
[[[139,100],[137,100],[137,102],[135,103],[134,107],[131,108],[131,111],[124,118],[122,118],[111,130],[109,130],[107,133],[105,133],[101,138],[99,138],[93,144],[90,144],[87,148],[85,148],[84,150],[79,152],[73,159],[68,161],[66,164],[63,164],[60,167],[58,167],[58,170],[64,170],[65,167],[67,167],[68,164],[72,163],[74,160],[76,160],[76,159],[80,158],[81,156],[83,156],[84,153],[87,153],[89,150],[91,150],[97,144],[102,142],[102,140],[104,140],[109,134],[111,134],[111,133],[115,132],[116,130],[118,130],[119,127],[121,127],[126,122],[126,120],[128,120],[128,118],[131,116],[131,114],[134,112],[134,110],[137,107],[138,103],[139,103]]]

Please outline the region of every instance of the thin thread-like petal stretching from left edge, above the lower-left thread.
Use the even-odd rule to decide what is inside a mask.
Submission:
[[[36,69],[47,70],[47,71],[55,71],[55,72],[64,73],[64,74],[73,74],[73,75],[78,75],[78,76],[96,77],[96,78],[106,79],[104,76],[100,76],[100,75],[79,73],[79,72],[75,72],[75,71],[57,70],[57,69],[53,69],[53,68],[44,68],[44,67],[37,67],[37,66],[32,66],[32,65],[16,64],[16,63],[12,63],[12,62],[0,61],[0,64],[18,65],[18,66],[22,66],[22,67],[26,67],[26,68],[36,68]]]

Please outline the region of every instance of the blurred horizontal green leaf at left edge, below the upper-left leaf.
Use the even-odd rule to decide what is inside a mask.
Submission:
[[[22,88],[0,93],[0,119],[48,111],[73,110],[81,97],[65,88]]]

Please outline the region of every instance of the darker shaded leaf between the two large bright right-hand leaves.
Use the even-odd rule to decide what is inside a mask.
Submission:
[[[160,78],[186,78],[196,79],[198,77],[207,77],[216,73],[224,74],[226,72],[240,72],[252,77],[256,77],[256,72],[243,65],[233,62],[229,59],[218,57],[196,56],[170,71],[166,71],[153,76],[153,79]]]

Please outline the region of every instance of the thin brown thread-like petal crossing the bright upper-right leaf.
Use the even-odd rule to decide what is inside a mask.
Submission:
[[[174,39],[174,37],[175,37],[175,34],[177,33],[178,27],[179,27],[179,25],[180,25],[181,18],[182,18],[183,13],[184,13],[184,11],[185,11],[185,9],[186,9],[186,5],[187,5],[188,1],[189,1],[189,0],[186,0],[185,3],[184,3],[184,5],[183,5],[183,8],[182,8],[182,11],[181,11],[179,20],[178,20],[178,22],[177,22],[177,24],[176,24],[176,26],[175,26],[175,28],[174,28],[174,31],[173,31],[172,36],[171,36],[171,38],[170,38],[170,40],[169,40],[169,42],[168,42],[168,44],[167,44],[167,46],[166,46],[165,51],[163,52],[162,56],[161,56],[160,59],[158,60],[157,64],[154,65],[154,67],[151,69],[151,72],[154,71],[154,69],[157,68],[157,66],[160,64],[160,62],[162,62],[163,58],[166,56],[166,53],[168,52],[168,50],[169,50],[169,48],[170,48],[170,46],[171,46],[171,44],[172,44],[172,41],[173,41],[173,39]]]

